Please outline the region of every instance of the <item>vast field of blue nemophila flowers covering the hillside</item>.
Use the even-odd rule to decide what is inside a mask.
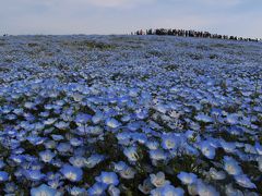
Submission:
[[[262,45],[0,38],[0,195],[262,194]]]

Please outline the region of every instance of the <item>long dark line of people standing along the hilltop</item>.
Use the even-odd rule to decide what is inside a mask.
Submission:
[[[245,40],[245,41],[262,41],[262,39],[258,38],[243,38],[238,36],[228,36],[228,35],[219,35],[219,34],[211,34],[209,32],[200,32],[200,30],[186,30],[186,29],[166,29],[166,28],[157,28],[157,29],[146,29],[145,32],[140,29],[135,33],[131,33],[134,35],[169,35],[169,36],[180,36],[180,37],[201,37],[201,38],[215,38],[215,39],[230,39],[230,40]]]

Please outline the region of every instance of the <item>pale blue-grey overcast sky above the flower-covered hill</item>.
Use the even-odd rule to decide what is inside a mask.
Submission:
[[[0,0],[0,34],[186,28],[262,37],[262,0]]]

